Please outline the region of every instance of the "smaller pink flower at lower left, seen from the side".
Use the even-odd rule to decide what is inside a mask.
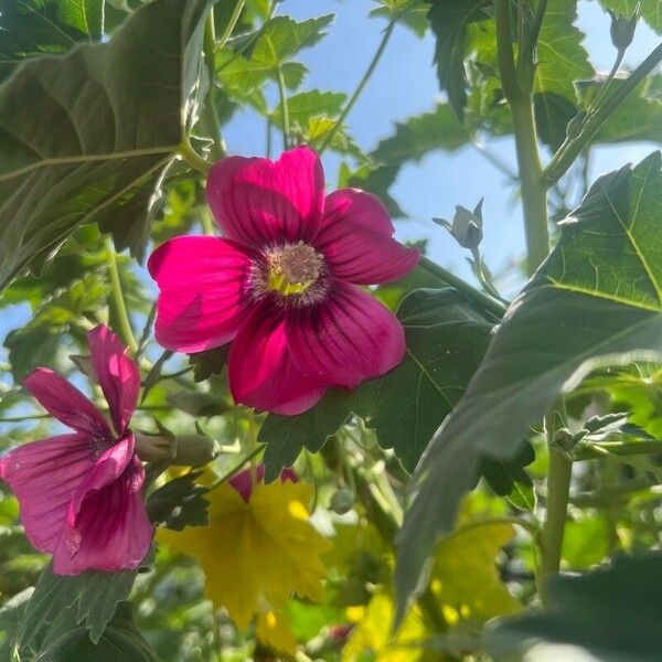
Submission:
[[[0,478],[19,499],[25,534],[53,555],[58,575],[138,567],[152,538],[141,495],[145,469],[128,428],[140,373],[107,327],[96,327],[87,340],[115,431],[75,386],[38,367],[25,387],[72,431],[0,459]]]

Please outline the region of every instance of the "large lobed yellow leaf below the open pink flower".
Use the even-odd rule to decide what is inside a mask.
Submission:
[[[330,543],[308,522],[310,499],[302,482],[258,483],[248,503],[223,484],[210,493],[209,526],[161,530],[159,541],[201,560],[207,597],[243,629],[292,592],[322,599],[320,554]]]

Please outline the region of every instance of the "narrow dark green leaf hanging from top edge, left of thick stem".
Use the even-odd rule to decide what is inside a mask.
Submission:
[[[435,63],[442,90],[460,121],[465,119],[467,105],[467,74],[465,58],[469,54],[468,26],[488,21],[482,10],[489,0],[445,0],[435,2],[428,20],[437,38]]]

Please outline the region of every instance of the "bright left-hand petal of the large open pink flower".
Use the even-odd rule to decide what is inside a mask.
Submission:
[[[218,237],[175,237],[159,246],[148,263],[160,289],[158,342],[191,353],[232,340],[247,311],[252,265],[249,253]]]

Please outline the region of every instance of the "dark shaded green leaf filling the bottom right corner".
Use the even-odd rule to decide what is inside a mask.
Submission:
[[[653,662],[662,658],[660,591],[660,554],[621,557],[595,573],[555,577],[547,587],[545,610],[499,619],[485,644],[499,660],[519,660],[526,653],[532,662],[570,656]]]

